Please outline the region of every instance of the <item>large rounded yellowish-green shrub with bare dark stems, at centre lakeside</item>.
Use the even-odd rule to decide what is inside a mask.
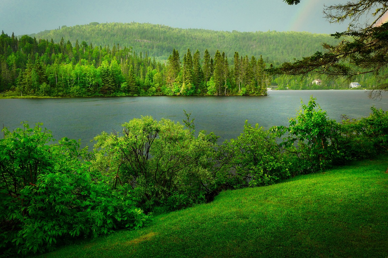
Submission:
[[[147,210],[170,203],[173,196],[202,196],[213,181],[208,167],[214,143],[203,131],[195,137],[187,119],[189,129],[147,116],[123,124],[121,136],[103,132],[95,137],[92,169],[106,171],[113,187],[128,183]]]

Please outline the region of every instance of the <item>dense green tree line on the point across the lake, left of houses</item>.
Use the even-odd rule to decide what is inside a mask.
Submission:
[[[33,96],[266,95],[271,78],[263,57],[225,52],[203,58],[173,49],[165,62],[119,44],[74,46],[12,33],[0,36],[0,91]]]

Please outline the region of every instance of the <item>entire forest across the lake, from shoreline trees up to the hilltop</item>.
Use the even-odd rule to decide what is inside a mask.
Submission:
[[[316,51],[318,41],[331,39],[328,35],[229,33],[139,23],[62,26],[43,33],[40,38],[0,35],[2,96],[266,95],[268,87],[343,89],[350,83],[325,74],[266,72],[282,60]],[[112,40],[117,43],[110,45]],[[369,89],[381,83],[374,74],[353,80]]]

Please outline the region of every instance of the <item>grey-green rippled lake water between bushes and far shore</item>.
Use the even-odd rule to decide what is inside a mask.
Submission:
[[[388,110],[388,94],[370,99],[362,90],[268,91],[269,96],[152,96],[110,98],[45,98],[0,99],[0,126],[14,129],[21,121],[30,127],[36,122],[52,131],[55,139],[81,139],[82,145],[92,146],[90,140],[102,131],[121,131],[121,124],[142,115],[155,119],[182,122],[183,110],[195,118],[196,130],[213,131],[220,142],[236,138],[244,121],[269,128],[288,125],[295,117],[301,99],[308,102],[311,95],[331,119],[342,114],[358,118],[368,116],[370,108]],[[3,137],[1,134],[0,137]]]

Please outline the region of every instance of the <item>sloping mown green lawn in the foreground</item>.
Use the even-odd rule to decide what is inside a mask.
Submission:
[[[41,257],[386,257],[388,157],[226,191]]]

